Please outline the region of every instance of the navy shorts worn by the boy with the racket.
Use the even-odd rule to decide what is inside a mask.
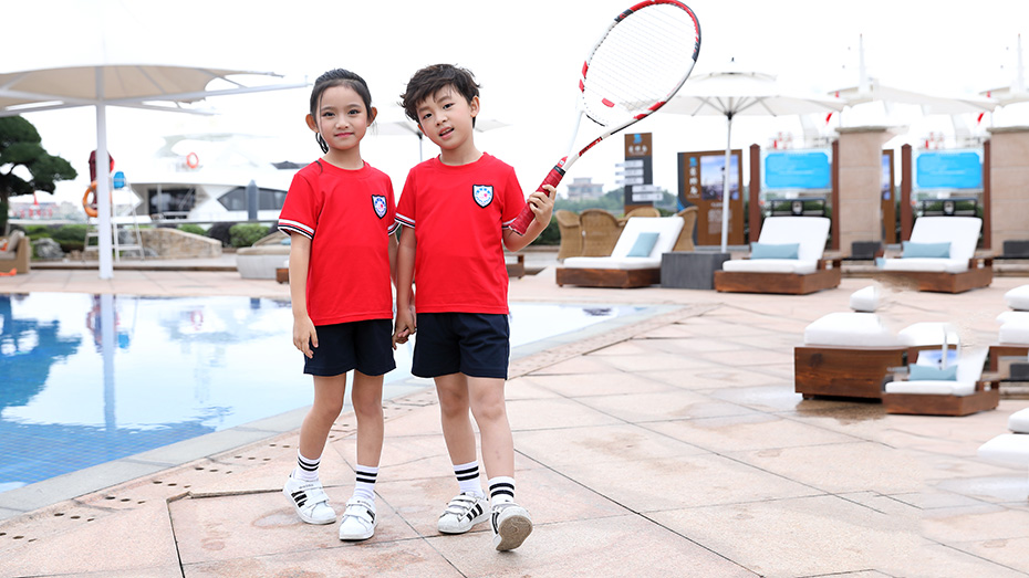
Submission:
[[[439,377],[508,378],[511,328],[508,316],[489,313],[419,313],[410,372]]]

